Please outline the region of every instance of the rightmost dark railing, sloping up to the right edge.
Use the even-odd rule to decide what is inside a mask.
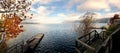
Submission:
[[[113,44],[113,37],[114,37],[115,35],[118,35],[117,33],[119,33],[119,32],[120,32],[120,27],[117,28],[112,34],[110,34],[110,35],[104,40],[104,42],[103,42],[103,44],[102,44],[102,46],[101,46],[101,48],[100,48],[100,50],[99,50],[99,53],[113,53],[112,50],[115,49],[115,48],[113,48],[114,45],[112,45],[112,44]],[[117,37],[119,37],[119,36],[117,36]],[[117,44],[115,44],[115,45],[117,45]],[[119,47],[119,46],[118,46],[118,47]],[[114,52],[114,53],[116,53],[116,52]],[[119,52],[118,52],[118,53],[119,53]]]

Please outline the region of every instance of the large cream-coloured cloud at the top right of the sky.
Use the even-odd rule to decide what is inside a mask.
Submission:
[[[104,10],[106,12],[112,10],[112,6],[116,9],[120,9],[120,0],[86,0],[85,2],[77,6],[79,11],[100,11]]]

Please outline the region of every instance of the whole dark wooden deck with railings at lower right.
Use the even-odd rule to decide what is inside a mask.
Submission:
[[[116,52],[115,45],[118,46],[120,44],[120,43],[115,43],[115,41],[120,40],[119,32],[120,32],[120,27],[116,29],[114,32],[112,32],[110,35],[107,35],[106,31],[101,31],[100,33],[98,33],[96,30],[94,30],[86,35],[78,37],[76,39],[76,47],[75,47],[76,53]]]

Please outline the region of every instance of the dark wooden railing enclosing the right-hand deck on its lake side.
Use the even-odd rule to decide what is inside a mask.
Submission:
[[[91,31],[88,34],[85,34],[81,37],[78,37],[76,39],[76,51],[77,53],[84,53],[88,52],[89,53],[95,53],[96,52],[96,43],[94,42],[99,42],[103,40],[105,37],[105,31],[102,31],[101,33],[98,33],[96,30]],[[98,40],[100,39],[100,40]],[[100,42],[101,43],[101,42]],[[99,44],[99,43],[98,43]]]

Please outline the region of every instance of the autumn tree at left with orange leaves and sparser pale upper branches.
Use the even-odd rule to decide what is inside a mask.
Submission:
[[[0,0],[0,36],[8,40],[17,37],[23,31],[20,23],[33,14],[26,14],[30,10],[30,0]]]

